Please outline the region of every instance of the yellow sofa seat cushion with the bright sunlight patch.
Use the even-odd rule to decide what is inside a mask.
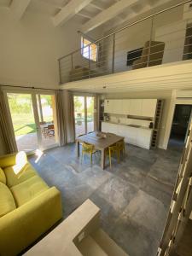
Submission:
[[[26,181],[28,178],[37,175],[37,172],[33,169],[30,163],[26,163],[25,166],[20,168],[20,172],[18,172],[18,168],[16,166],[9,166],[3,169],[5,176],[7,178],[7,185],[9,188]]]

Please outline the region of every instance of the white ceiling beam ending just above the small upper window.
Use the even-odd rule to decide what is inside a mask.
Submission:
[[[106,21],[111,20],[116,15],[119,15],[121,12],[124,11],[125,8],[128,8],[132,4],[137,3],[137,1],[138,0],[120,0],[117,3],[114,3],[108,9],[103,10],[100,14],[96,15],[91,20],[84,23],[84,25],[81,26],[81,31],[84,33],[90,32],[97,26],[101,26]]]

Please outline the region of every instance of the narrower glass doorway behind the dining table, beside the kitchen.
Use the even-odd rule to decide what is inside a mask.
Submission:
[[[94,96],[73,96],[75,136],[94,131]]]

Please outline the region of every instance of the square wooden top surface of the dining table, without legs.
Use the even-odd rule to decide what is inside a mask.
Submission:
[[[106,132],[102,132],[102,134],[106,135],[105,138],[102,138],[96,136],[98,133],[101,132],[94,131],[83,136],[77,137],[77,141],[79,141],[80,143],[89,143],[91,145],[94,145],[96,149],[102,150],[124,139],[124,137],[120,137],[118,135]]]

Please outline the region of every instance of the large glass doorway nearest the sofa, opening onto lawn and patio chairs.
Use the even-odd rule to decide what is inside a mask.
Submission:
[[[7,99],[19,151],[30,153],[58,144],[54,94],[10,91]]]

